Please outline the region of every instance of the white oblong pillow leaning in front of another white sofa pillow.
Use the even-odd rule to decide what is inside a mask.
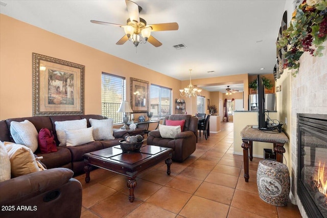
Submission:
[[[67,137],[66,146],[82,145],[94,141],[92,132],[93,127],[76,130],[65,130]]]

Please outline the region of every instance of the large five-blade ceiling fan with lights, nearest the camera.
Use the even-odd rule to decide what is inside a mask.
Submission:
[[[125,0],[129,18],[126,25],[112,24],[104,21],[91,20],[91,23],[102,25],[115,25],[124,28],[126,35],[124,35],[116,45],[123,45],[127,40],[133,42],[137,47],[139,43],[150,42],[154,47],[162,45],[160,41],[151,35],[154,31],[166,31],[166,30],[178,30],[177,23],[164,23],[164,24],[150,24],[147,25],[145,19],[139,17],[139,12],[142,11],[142,7],[136,3]]]

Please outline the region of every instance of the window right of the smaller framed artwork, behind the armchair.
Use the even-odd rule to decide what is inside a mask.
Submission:
[[[150,86],[150,111],[153,119],[163,119],[172,114],[172,90],[160,85]]]

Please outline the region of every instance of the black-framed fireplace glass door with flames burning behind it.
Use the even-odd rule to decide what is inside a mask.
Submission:
[[[327,217],[327,120],[300,117],[298,195],[309,217]]]

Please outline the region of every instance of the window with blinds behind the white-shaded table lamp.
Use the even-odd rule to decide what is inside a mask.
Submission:
[[[102,72],[102,115],[112,118],[113,123],[122,123],[123,113],[117,111],[124,100],[126,100],[125,77]]]

